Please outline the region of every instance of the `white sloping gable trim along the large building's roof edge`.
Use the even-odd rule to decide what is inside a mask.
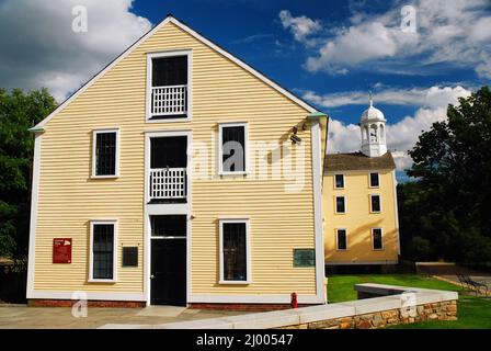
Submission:
[[[195,37],[196,39],[198,39],[203,44],[209,46],[214,50],[218,52],[222,56],[225,56],[228,59],[230,59],[232,63],[239,65],[240,67],[242,67],[243,69],[246,69],[250,73],[252,73],[254,77],[256,77],[258,79],[260,79],[261,81],[263,81],[267,86],[272,87],[273,89],[275,89],[276,91],[282,93],[283,95],[288,98],[289,100],[294,101],[295,103],[297,103],[298,105],[300,105],[301,107],[307,110],[308,112],[310,112],[310,113],[318,112],[317,109],[315,109],[309,103],[307,103],[302,99],[298,98],[297,95],[295,95],[290,91],[288,91],[285,88],[281,87],[278,83],[276,83],[271,78],[267,78],[265,75],[263,75],[259,70],[252,68],[251,66],[246,64],[240,58],[236,57],[235,55],[230,54],[229,52],[227,52],[222,47],[218,46],[217,44],[213,43],[208,38],[204,37],[202,34],[199,34],[198,32],[194,31],[193,29],[191,29],[190,26],[184,24],[182,21],[175,19],[172,14],[168,14],[167,18],[162,22],[160,22],[158,25],[156,25],[153,29],[151,29],[147,34],[145,34],[138,41],[136,41],[123,54],[121,54],[118,57],[116,57],[112,63],[110,63],[106,67],[104,67],[99,73],[96,73],[93,78],[91,78],[88,82],[85,82],[82,87],[80,87],[79,90],[77,90],[75,93],[72,93],[55,111],[53,111],[46,118],[44,118],[42,122],[39,122],[36,126],[34,126],[30,131],[34,132],[34,133],[43,132],[44,131],[43,127],[46,125],[46,123],[48,123],[54,116],[56,116],[59,112],[61,112],[68,104],[70,104],[71,101],[73,101],[79,94],[81,94],[89,87],[91,87],[95,81],[98,81],[101,77],[103,77],[110,69],[112,69],[114,66],[116,66],[126,56],[128,56],[130,53],[133,53],[133,50],[135,50],[141,43],[144,43],[147,38],[152,36],[157,31],[162,29],[169,22],[175,24],[181,30],[183,30],[187,34],[192,35],[193,37]]]

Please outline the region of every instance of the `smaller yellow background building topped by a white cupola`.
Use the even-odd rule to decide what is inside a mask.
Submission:
[[[361,151],[326,157],[322,210],[328,268],[398,263],[396,165],[387,150],[385,124],[370,98],[359,122]]]

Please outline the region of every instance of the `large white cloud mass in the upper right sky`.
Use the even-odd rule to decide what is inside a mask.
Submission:
[[[424,72],[431,65],[449,65],[472,68],[481,78],[491,78],[489,0],[414,0],[415,33],[400,27],[404,4],[392,0],[391,10],[378,14],[357,9],[346,25],[331,27],[331,35],[312,38],[321,44],[305,67],[312,72],[345,75],[353,69]],[[328,33],[320,29],[316,32]]]

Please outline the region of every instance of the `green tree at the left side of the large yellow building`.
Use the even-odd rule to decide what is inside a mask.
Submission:
[[[26,258],[34,149],[27,129],[55,107],[46,89],[0,89],[0,256]]]

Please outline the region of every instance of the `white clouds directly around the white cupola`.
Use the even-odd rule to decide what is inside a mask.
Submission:
[[[429,131],[433,123],[446,118],[446,110],[448,104],[456,104],[458,98],[469,97],[470,91],[463,87],[431,87],[429,89],[412,89],[407,91],[404,97],[403,90],[387,89],[376,97],[398,95],[399,102],[384,101],[384,103],[398,105],[418,105],[413,116],[406,116],[397,123],[390,123],[390,116],[386,116],[387,123],[387,146],[395,151],[393,156],[399,170],[408,169],[412,160],[408,155],[408,150],[415,145],[422,131]],[[312,99],[313,97],[313,99]],[[304,94],[304,98],[312,103],[327,107],[341,106],[349,104],[366,105],[367,95],[361,92],[344,92],[338,94],[319,97],[313,92]],[[363,101],[362,101],[363,98]],[[376,99],[380,101],[380,99]],[[362,111],[361,111],[362,112]],[[329,122],[328,152],[350,152],[357,151],[361,148],[362,137],[358,125],[344,124],[339,120]]]

